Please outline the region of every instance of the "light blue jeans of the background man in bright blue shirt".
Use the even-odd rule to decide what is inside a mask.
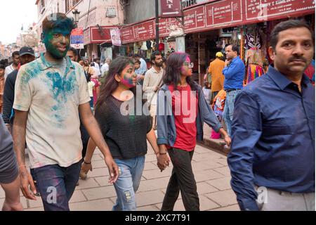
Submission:
[[[225,120],[225,124],[227,127],[227,132],[229,136],[232,136],[232,115],[234,115],[234,103],[237,94],[239,94],[241,90],[230,91],[226,94],[225,99],[225,108],[223,112],[223,118]]]

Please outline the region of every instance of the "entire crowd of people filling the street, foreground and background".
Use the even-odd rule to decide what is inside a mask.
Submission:
[[[274,65],[246,87],[237,46],[226,46],[225,61],[216,53],[208,72],[212,98],[226,93],[227,131],[192,79],[187,53],[164,59],[154,51],[149,69],[137,54],[100,65],[70,48],[75,25],[65,14],[45,18],[42,27],[45,53],[35,59],[32,48],[23,47],[11,65],[0,65],[3,210],[22,210],[20,188],[25,198],[40,196],[44,210],[70,210],[96,148],[117,193],[112,210],[136,210],[148,141],[161,171],[173,165],[161,210],[173,210],[181,192],[185,210],[198,211],[192,157],[204,122],[231,146],[228,165],[241,210],[315,210],[315,88],[303,75],[314,37],[305,23],[275,27]],[[261,186],[268,188],[268,204],[256,201]],[[58,193],[53,200],[52,188]]]

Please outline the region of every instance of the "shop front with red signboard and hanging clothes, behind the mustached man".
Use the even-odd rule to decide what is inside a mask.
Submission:
[[[244,83],[260,77],[268,68],[270,32],[282,20],[306,20],[315,30],[315,2],[275,0],[223,0],[185,8],[185,49],[195,63],[199,84],[218,51],[239,46],[246,65]],[[197,77],[196,77],[197,79]]]

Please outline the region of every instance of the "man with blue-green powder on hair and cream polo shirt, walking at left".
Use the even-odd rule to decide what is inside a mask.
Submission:
[[[42,28],[46,53],[23,65],[15,83],[14,148],[23,195],[36,200],[37,190],[25,165],[26,140],[29,167],[37,180],[44,210],[67,211],[81,169],[79,113],[104,155],[110,183],[119,173],[91,112],[84,70],[66,57],[74,21],[63,13],[53,13],[44,19]]]

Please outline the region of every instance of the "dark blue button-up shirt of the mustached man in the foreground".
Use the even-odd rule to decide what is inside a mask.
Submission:
[[[242,210],[258,210],[254,186],[315,192],[315,88],[298,86],[270,66],[237,96],[228,155]]]

